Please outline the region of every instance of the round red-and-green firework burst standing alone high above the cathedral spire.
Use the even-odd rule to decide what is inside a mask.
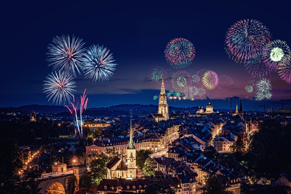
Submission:
[[[171,40],[164,52],[167,62],[176,69],[187,67],[195,57],[193,44],[184,38]]]

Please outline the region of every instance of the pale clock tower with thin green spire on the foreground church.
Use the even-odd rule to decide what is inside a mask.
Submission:
[[[130,138],[127,144],[127,179],[136,178],[136,149],[132,138],[132,124],[130,111]]]

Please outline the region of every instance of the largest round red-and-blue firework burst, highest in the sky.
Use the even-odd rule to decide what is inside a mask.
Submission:
[[[250,51],[260,53],[270,40],[271,34],[261,22],[244,19],[228,29],[225,50],[229,58],[244,63]]]

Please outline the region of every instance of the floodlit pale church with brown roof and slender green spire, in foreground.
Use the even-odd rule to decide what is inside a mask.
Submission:
[[[130,138],[127,143],[127,159],[123,161],[121,158],[115,157],[107,163],[107,179],[136,178],[136,149],[132,138],[132,123],[130,116]]]

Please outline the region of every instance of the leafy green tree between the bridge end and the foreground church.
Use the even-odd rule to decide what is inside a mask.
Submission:
[[[97,158],[90,163],[91,171],[88,173],[93,184],[99,184],[107,175],[106,163],[103,159]]]

